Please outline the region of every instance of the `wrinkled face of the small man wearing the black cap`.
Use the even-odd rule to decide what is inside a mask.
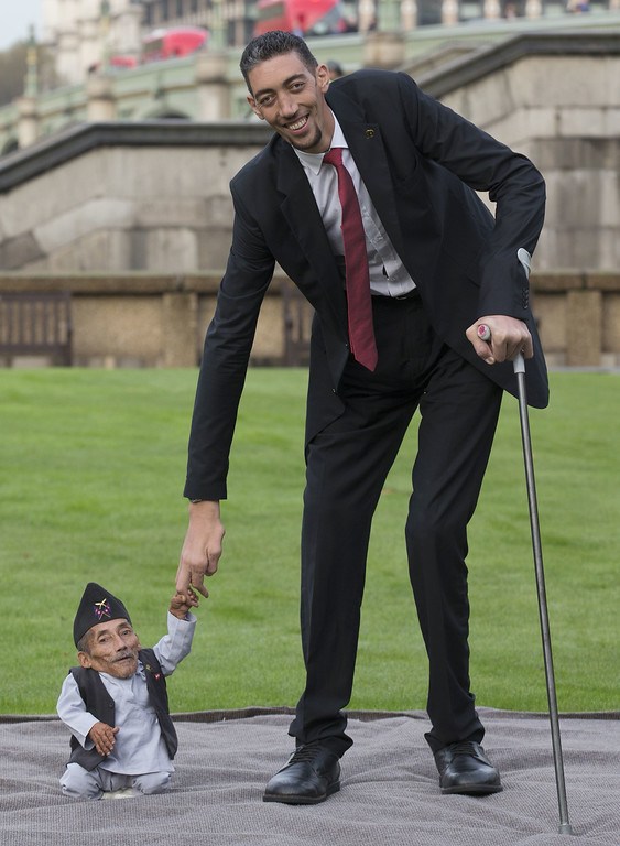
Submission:
[[[78,652],[81,666],[130,679],[138,670],[138,634],[127,620],[98,622],[88,632],[88,652]]]

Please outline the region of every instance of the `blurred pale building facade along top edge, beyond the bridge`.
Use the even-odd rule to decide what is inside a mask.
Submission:
[[[42,42],[55,56],[57,78],[83,83],[110,55],[140,58],[157,29],[202,26],[218,47],[251,37],[261,0],[42,0]],[[283,3],[286,0],[282,0]],[[619,10],[620,0],[339,0],[351,29],[407,33],[479,20],[559,18]]]

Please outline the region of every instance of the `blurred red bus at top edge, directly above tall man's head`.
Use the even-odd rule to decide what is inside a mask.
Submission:
[[[340,0],[258,0],[254,35],[284,30],[298,35],[330,35],[356,29]]]

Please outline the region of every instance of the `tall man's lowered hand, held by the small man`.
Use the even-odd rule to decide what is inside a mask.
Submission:
[[[189,525],[176,572],[177,594],[186,596],[192,586],[203,596],[209,595],[204,578],[217,571],[224,534],[219,502],[205,500],[189,503]]]

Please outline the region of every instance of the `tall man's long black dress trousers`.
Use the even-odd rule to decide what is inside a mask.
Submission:
[[[290,734],[344,753],[372,516],[417,408],[405,528],[410,579],[429,660],[433,751],[480,741],[469,690],[467,523],[482,484],[502,391],[446,347],[418,297],[373,297],[379,362],[347,365],[344,413],[306,447],[301,627],[306,686]],[[313,367],[325,366],[313,359]],[[328,383],[328,380],[324,380]]]

